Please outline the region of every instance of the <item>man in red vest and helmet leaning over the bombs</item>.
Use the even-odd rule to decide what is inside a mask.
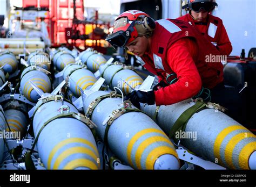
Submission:
[[[139,103],[171,105],[194,96],[229,107],[238,99],[224,87],[217,48],[185,21],[154,21],[142,11],[126,11],[116,19],[106,41],[115,48],[125,47],[158,76],[159,84],[152,91],[137,90],[125,97],[138,108]]]

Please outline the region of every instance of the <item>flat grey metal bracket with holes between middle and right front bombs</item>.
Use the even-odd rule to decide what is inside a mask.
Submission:
[[[226,169],[222,166],[219,166],[218,164],[200,159],[198,156],[188,153],[187,150],[184,149],[183,147],[178,147],[178,149],[176,149],[176,152],[178,153],[178,157],[180,160],[184,160],[186,162],[193,163],[193,164],[200,166],[204,169],[217,169],[217,170],[225,170]]]

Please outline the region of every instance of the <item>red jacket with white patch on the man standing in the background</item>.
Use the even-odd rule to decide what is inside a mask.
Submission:
[[[216,43],[216,47],[221,55],[230,55],[232,52],[230,39],[228,38],[223,21],[220,18],[208,15],[207,21],[204,24],[203,22],[194,20],[190,13],[187,13],[185,16],[181,16],[177,19],[187,21],[196,27],[209,41]]]

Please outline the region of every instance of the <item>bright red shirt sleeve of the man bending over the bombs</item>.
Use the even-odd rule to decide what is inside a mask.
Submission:
[[[189,38],[179,39],[169,48],[167,61],[177,74],[178,81],[154,91],[156,105],[171,105],[197,95],[202,87],[201,77],[195,64],[198,52],[196,42]],[[166,82],[166,76],[163,78],[163,75],[165,74],[158,76],[159,81]]]

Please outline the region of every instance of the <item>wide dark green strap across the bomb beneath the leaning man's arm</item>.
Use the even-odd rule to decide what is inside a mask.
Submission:
[[[184,131],[186,128],[187,121],[190,120],[193,114],[203,109],[206,109],[206,103],[197,102],[196,104],[188,108],[185,112],[183,112],[177,119],[177,121],[173,124],[171,131],[169,133],[169,138],[173,138],[174,141],[177,142],[174,134],[179,130]]]

